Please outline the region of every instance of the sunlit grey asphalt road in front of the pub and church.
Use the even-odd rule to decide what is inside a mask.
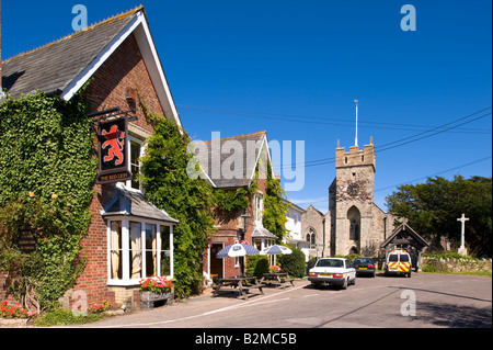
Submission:
[[[90,328],[491,328],[492,280],[413,273],[358,278],[342,291],[313,289],[306,280],[285,290],[210,294],[151,312],[112,317]],[[202,332],[200,332],[202,335]]]

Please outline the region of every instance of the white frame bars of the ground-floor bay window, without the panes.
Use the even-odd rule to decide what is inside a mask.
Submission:
[[[121,222],[122,223],[122,280],[112,279],[112,260],[111,260],[111,239],[112,239],[112,222]],[[134,223],[140,223],[141,224],[141,247],[142,250],[142,276],[139,279],[130,279],[130,246],[129,246],[129,234],[130,234],[130,222]],[[174,252],[173,252],[173,225],[162,223],[162,222],[156,222],[156,221],[149,221],[149,219],[141,219],[137,217],[127,217],[127,216],[121,216],[121,217],[112,217],[107,219],[106,227],[107,227],[107,285],[115,285],[115,286],[133,286],[133,285],[139,285],[140,280],[144,278],[145,271],[146,271],[146,224],[147,225],[156,225],[157,227],[157,260],[161,261],[161,226],[168,226],[170,227],[170,278],[174,278]],[[161,263],[158,263],[158,275],[161,274]]]

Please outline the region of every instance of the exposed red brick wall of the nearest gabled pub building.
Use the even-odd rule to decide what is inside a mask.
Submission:
[[[94,74],[93,82],[85,91],[90,111],[103,111],[116,106],[123,111],[129,110],[130,106],[126,99],[128,88],[139,92],[150,112],[163,115],[163,110],[133,34]],[[131,124],[152,133],[152,126],[146,121],[138,102],[136,114],[138,121],[134,121]],[[94,140],[94,145],[96,145],[96,140]],[[113,199],[113,194],[114,185],[95,185],[94,197],[90,206],[93,216],[88,235],[82,240],[87,267],[78,278],[74,290],[84,291],[89,304],[101,303],[103,300],[110,300],[114,304],[115,296],[118,294],[115,294],[115,287],[110,289],[106,285],[107,227],[100,214],[104,205]],[[128,291],[124,294],[131,295]],[[136,302],[134,301],[134,303]]]

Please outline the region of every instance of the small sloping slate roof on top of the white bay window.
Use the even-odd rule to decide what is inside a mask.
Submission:
[[[122,184],[116,184],[115,191],[113,202],[101,213],[103,217],[133,216],[158,222],[179,223],[167,212],[148,202],[142,192],[127,189]]]

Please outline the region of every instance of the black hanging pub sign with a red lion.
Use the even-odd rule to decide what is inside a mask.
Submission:
[[[114,183],[131,180],[127,140],[128,118],[119,117],[100,122],[98,126],[100,171],[96,183]]]

